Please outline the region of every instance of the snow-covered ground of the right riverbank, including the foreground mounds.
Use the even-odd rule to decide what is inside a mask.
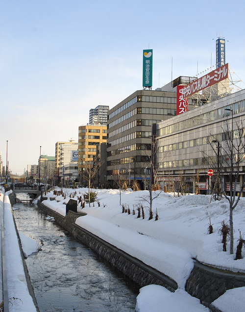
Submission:
[[[59,189],[57,188],[57,190]],[[72,194],[73,199],[78,199],[88,189],[63,189],[63,191],[66,194],[66,199],[61,195],[53,195],[53,191],[51,191],[47,193],[48,200],[44,201],[43,204],[65,215],[66,204],[70,199],[69,195]],[[179,298],[180,302],[184,300],[187,305],[190,304],[190,307],[195,306],[194,299],[183,299],[183,296],[189,297],[184,292],[184,286],[194,265],[193,258],[221,269],[245,272],[245,259],[234,260],[235,255],[222,251],[221,235],[218,231],[221,222],[223,220],[228,222],[229,220],[229,206],[225,199],[219,202],[213,200],[210,202],[211,196],[174,197],[173,194],[161,192],[153,200],[154,217],[152,220],[148,220],[148,203],[146,201],[149,199],[148,191],[122,191],[121,204],[130,209],[130,214],[128,212],[122,213],[119,190],[102,189],[96,190],[96,192],[98,193],[97,202],[91,204],[91,207],[86,204],[85,208],[82,209],[79,204],[78,209],[86,212],[87,216],[77,218],[76,224],[175,280],[179,286],[175,293],[168,294],[166,289],[159,290],[160,288],[156,291],[156,293],[165,293],[165,301],[168,301],[167,298],[171,298],[169,300],[175,300],[177,304],[177,298]],[[156,195],[159,191],[153,193]],[[56,200],[50,201],[50,197],[56,197]],[[142,217],[142,211],[141,217],[137,218],[138,211],[136,209],[140,204],[144,206],[145,219]],[[159,215],[157,221],[155,221],[156,209]],[[133,210],[135,210],[135,215],[133,215]],[[242,234],[245,233],[245,198],[241,198],[233,214],[234,245],[236,246],[236,241],[240,236],[239,231]],[[209,218],[211,218],[213,225],[213,234],[208,234],[207,231]],[[229,250],[229,242],[227,250]],[[245,257],[244,250],[243,257]],[[239,291],[239,302],[244,300],[243,305],[245,305],[245,296],[241,296],[241,289],[233,290],[234,305],[232,311],[240,312],[239,308],[236,310],[236,290]],[[140,294],[138,297],[138,312],[183,311],[181,304],[179,310],[171,308],[171,305],[169,310],[159,308],[155,300],[156,293],[154,295],[154,291],[152,292],[152,288],[149,286],[142,288],[142,292],[144,292],[144,296]],[[160,297],[163,296],[162,294]],[[222,299],[223,296],[219,298],[220,302],[226,301],[226,299]],[[141,304],[143,297],[148,298],[151,310],[147,310],[144,308],[144,304]],[[192,308],[188,311],[198,311],[195,309]],[[206,308],[201,305],[200,309],[206,311]],[[221,310],[226,312],[225,307]]]

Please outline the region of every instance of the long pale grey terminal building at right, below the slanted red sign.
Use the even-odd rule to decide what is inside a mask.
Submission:
[[[175,191],[180,181],[184,181],[187,191],[195,192],[198,182],[205,193],[208,186],[208,170],[213,169],[211,188],[214,186],[217,168],[217,151],[224,148],[225,133],[231,134],[234,146],[238,143],[238,127],[245,128],[245,90],[228,94],[214,102],[174,116],[156,124],[156,167],[160,187],[171,186]],[[244,133],[244,132],[243,132]],[[241,139],[241,138],[240,138]],[[243,138],[244,140],[244,134]],[[233,158],[236,148],[234,148]],[[245,152],[245,151],[244,151]],[[243,152],[243,153],[244,153]],[[229,167],[229,155],[221,156],[223,168]],[[245,157],[240,164],[240,179],[236,191],[239,191],[245,174]],[[226,169],[225,169],[226,170]],[[229,169],[228,169],[229,170]],[[229,191],[227,175],[223,175],[224,189]]]

